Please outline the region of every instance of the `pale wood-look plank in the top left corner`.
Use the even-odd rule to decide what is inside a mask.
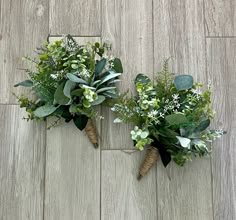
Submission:
[[[27,67],[22,57],[32,56],[48,35],[48,1],[0,1],[0,7],[0,103],[16,103],[13,85],[26,78],[18,69]]]

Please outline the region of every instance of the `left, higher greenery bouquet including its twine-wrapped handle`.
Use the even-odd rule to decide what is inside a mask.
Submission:
[[[110,45],[88,42],[78,45],[70,36],[46,42],[37,49],[37,57],[26,58],[31,68],[25,69],[29,79],[15,85],[30,87],[34,98],[17,96],[27,120],[73,120],[85,129],[94,147],[98,147],[96,128],[91,120],[97,116],[95,106],[117,97],[115,83],[123,72],[119,58],[110,54]]]

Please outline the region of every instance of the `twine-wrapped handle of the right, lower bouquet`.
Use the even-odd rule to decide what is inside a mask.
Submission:
[[[138,180],[140,180],[143,176],[145,176],[149,172],[149,170],[157,162],[158,158],[159,158],[159,153],[157,148],[151,146],[147,150],[144,161],[139,168],[139,173],[137,177]]]

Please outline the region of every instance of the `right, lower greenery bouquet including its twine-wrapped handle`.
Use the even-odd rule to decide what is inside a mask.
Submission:
[[[138,179],[150,170],[159,155],[164,166],[171,160],[183,166],[193,156],[209,155],[211,142],[225,133],[208,128],[214,117],[210,86],[203,89],[190,75],[174,76],[168,60],[154,82],[139,74],[135,87],[137,95],[122,95],[112,110],[118,115],[114,122],[134,124],[131,137],[135,147],[149,148]]]

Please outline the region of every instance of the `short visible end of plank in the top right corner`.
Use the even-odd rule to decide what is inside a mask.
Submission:
[[[205,26],[208,36],[236,36],[236,1],[205,0]]]

